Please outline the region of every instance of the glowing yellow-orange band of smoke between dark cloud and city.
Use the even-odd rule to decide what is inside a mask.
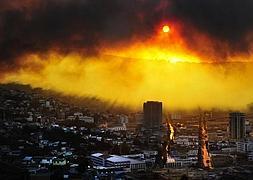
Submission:
[[[96,57],[57,52],[44,57],[27,55],[21,68],[5,75],[3,82],[97,96],[133,107],[146,100],[160,100],[171,109],[241,109],[252,102],[251,62],[232,63],[233,57],[227,63],[205,62],[183,44],[166,46],[161,38],[170,37],[158,33],[146,42],[105,48]]]

